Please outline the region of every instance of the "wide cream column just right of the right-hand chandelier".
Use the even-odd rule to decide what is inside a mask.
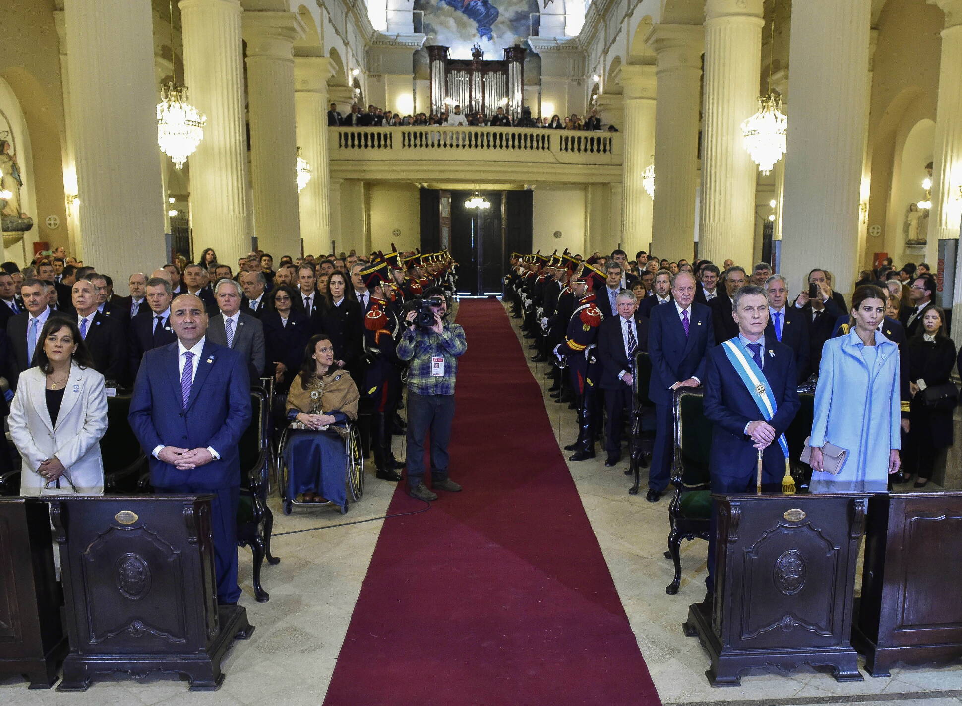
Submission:
[[[813,267],[831,271],[843,293],[858,274],[871,10],[871,0],[793,7],[780,267],[792,290]]]

